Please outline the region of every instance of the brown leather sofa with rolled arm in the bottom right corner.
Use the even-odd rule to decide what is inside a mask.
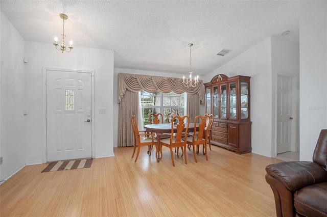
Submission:
[[[327,216],[327,129],[320,132],[311,161],[266,167],[277,216]]]

